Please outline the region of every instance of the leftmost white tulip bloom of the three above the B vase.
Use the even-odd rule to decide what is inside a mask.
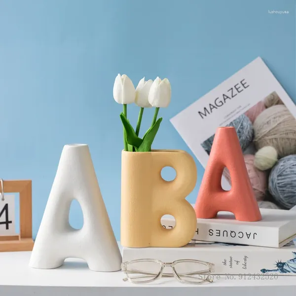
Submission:
[[[119,104],[131,104],[135,102],[136,90],[132,80],[125,74],[118,74],[113,86],[114,100]]]

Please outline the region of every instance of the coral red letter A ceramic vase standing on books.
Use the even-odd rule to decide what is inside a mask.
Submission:
[[[230,173],[230,191],[224,191],[221,186],[224,167],[227,167]],[[217,129],[195,203],[197,218],[214,218],[219,211],[232,212],[239,221],[261,220],[234,127]]]

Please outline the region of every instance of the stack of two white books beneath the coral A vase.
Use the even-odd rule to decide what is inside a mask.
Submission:
[[[123,261],[197,259],[215,264],[215,274],[296,275],[296,212],[260,209],[259,222],[239,222],[233,214],[197,219],[193,240],[182,248],[123,248]],[[175,220],[164,216],[165,228]]]

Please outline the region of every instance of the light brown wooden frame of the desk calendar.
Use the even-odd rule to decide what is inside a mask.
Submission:
[[[32,251],[34,245],[32,238],[32,181],[2,181],[0,187],[1,185],[3,186],[0,188],[1,198],[2,193],[19,193],[20,195],[20,233],[19,235],[1,235],[0,252]],[[5,222],[1,224],[9,223],[7,204],[0,208],[1,215],[5,215]]]

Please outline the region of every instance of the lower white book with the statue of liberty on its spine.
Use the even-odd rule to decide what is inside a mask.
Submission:
[[[173,262],[195,259],[215,264],[217,275],[237,275],[237,279],[253,279],[266,275],[276,279],[279,275],[296,275],[296,246],[293,242],[280,249],[197,242],[182,248],[123,248],[123,261],[158,259]],[[145,264],[142,263],[145,269]],[[145,270],[144,270],[145,271]],[[246,278],[239,278],[246,277]]]

